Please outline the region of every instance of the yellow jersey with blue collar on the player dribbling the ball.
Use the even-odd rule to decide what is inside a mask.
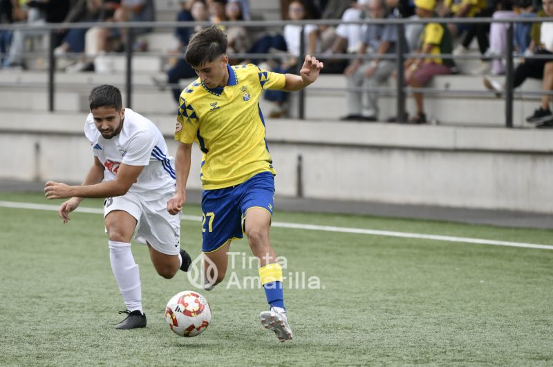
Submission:
[[[204,190],[236,186],[259,172],[276,175],[259,98],[265,89],[284,88],[285,76],[253,64],[227,69],[227,86],[210,89],[198,78],[180,93],[175,139],[198,143]]]

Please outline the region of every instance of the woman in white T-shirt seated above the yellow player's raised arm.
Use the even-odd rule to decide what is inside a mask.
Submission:
[[[305,6],[301,1],[292,1],[288,7],[288,19],[292,21],[299,21],[302,19],[311,19],[310,14],[306,11]],[[288,53],[291,54],[289,59],[286,59],[280,66],[274,68],[272,71],[285,74],[297,67],[300,55],[300,35],[302,26],[295,26],[292,24],[286,24],[284,26],[284,39],[286,41],[286,47]],[[304,43],[306,45],[306,51],[304,53],[315,54],[319,52],[320,46],[318,41],[317,26],[309,24],[305,26],[303,30]],[[274,108],[271,110],[269,116],[272,118],[283,117],[286,113],[286,101],[288,100],[288,94],[281,90],[266,90],[265,99],[274,102]]]

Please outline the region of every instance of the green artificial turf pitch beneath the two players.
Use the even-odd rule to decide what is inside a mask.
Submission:
[[[10,193],[0,200],[61,202]],[[0,208],[0,217],[2,366],[553,364],[553,250],[274,227],[284,275],[292,273],[285,304],[294,339],[281,344],[261,327],[263,289],[242,283],[257,276],[246,241],[232,244],[238,255],[227,280],[200,290],[212,324],[185,339],[171,333],[164,311],[172,295],[192,288],[187,276],[162,279],[139,244],[148,326],[113,328],[124,304],[102,215],[76,212],[66,225],[48,210]],[[274,221],[553,243],[551,230],[279,211]],[[182,221],[192,257],[200,241],[200,222]],[[308,279],[321,287],[309,289]]]

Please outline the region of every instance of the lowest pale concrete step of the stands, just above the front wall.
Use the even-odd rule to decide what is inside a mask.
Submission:
[[[95,83],[97,84],[97,83]],[[124,86],[123,100],[126,101]],[[55,110],[66,112],[88,111],[89,88],[73,91],[58,91],[55,95]],[[290,117],[298,116],[297,95],[292,95],[289,104]],[[176,103],[169,91],[160,92],[151,88],[136,88],[133,92],[133,107],[142,113],[176,113]],[[425,110],[429,121],[442,125],[462,124],[467,126],[505,126],[505,101],[502,99],[457,99],[439,98],[425,99]],[[45,90],[0,90],[1,110],[32,110],[36,112],[48,109]],[[272,103],[261,99],[261,110],[268,116],[273,108]],[[396,101],[392,97],[379,99],[380,119],[395,115]],[[514,126],[530,128],[525,117],[532,115],[538,104],[535,101],[514,102]],[[412,99],[407,102],[407,110],[413,112],[415,106]],[[315,120],[337,120],[347,115],[345,97],[336,95],[306,96],[306,118]]]

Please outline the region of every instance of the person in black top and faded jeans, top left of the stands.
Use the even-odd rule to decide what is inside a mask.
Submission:
[[[69,0],[32,0],[27,2],[29,8],[27,15],[28,28],[15,30],[12,36],[12,44],[8,59],[4,61],[4,67],[23,69],[26,67],[24,53],[26,43],[32,37],[48,34],[44,30],[33,29],[33,26],[41,26],[45,23],[59,23],[63,21],[69,11]],[[63,34],[54,34],[54,45],[61,42]]]

